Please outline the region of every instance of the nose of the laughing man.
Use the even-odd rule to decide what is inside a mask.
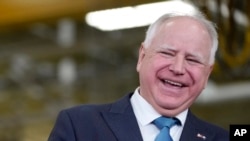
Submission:
[[[169,66],[169,70],[176,75],[185,73],[185,59],[181,56],[176,56]]]

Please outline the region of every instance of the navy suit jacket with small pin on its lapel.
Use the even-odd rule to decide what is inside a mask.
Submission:
[[[48,141],[143,141],[131,96],[115,103],[61,111]],[[180,141],[229,141],[229,133],[201,121],[189,111]]]

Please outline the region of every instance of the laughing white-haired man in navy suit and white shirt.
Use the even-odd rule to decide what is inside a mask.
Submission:
[[[228,141],[228,132],[195,117],[189,107],[205,88],[218,41],[198,11],[168,13],[148,31],[136,70],[140,86],[121,100],[60,112],[49,141],[153,141],[158,117],[178,120],[174,141]]]

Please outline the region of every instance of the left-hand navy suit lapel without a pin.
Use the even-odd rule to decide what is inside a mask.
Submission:
[[[142,141],[139,126],[130,104],[130,96],[114,103],[104,119],[119,141]]]

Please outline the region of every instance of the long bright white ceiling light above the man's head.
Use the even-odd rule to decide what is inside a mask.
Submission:
[[[170,11],[192,12],[193,10],[194,7],[181,1],[165,1],[134,7],[94,11],[86,14],[85,21],[88,25],[97,29],[111,31],[147,26]]]

